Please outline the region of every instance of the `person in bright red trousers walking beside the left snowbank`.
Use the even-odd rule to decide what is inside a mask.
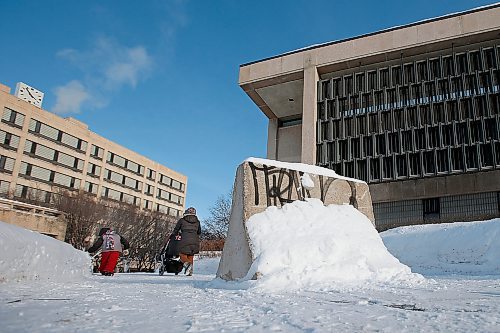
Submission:
[[[99,237],[95,243],[87,249],[87,252],[93,253],[101,249],[101,265],[99,272],[102,275],[111,276],[115,273],[116,264],[120,254],[130,247],[129,242],[123,237],[111,230],[111,228],[101,228]]]

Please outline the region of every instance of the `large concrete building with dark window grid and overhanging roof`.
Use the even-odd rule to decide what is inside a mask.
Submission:
[[[267,158],[365,180],[379,230],[500,216],[500,5],[241,65]]]

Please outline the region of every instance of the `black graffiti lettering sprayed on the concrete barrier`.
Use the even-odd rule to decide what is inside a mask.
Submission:
[[[249,163],[252,170],[255,205],[261,205],[261,193],[265,193],[266,206],[283,206],[286,203],[295,200],[304,200],[311,198],[311,192],[304,188],[301,183],[303,171],[290,170],[275,166],[262,165],[257,166],[254,163]],[[264,178],[264,188],[259,188],[259,178]],[[349,204],[357,208],[356,188],[354,182],[349,182],[345,179],[319,176],[320,200],[325,202],[329,191],[335,190],[337,182],[347,182],[351,188],[351,196]]]

